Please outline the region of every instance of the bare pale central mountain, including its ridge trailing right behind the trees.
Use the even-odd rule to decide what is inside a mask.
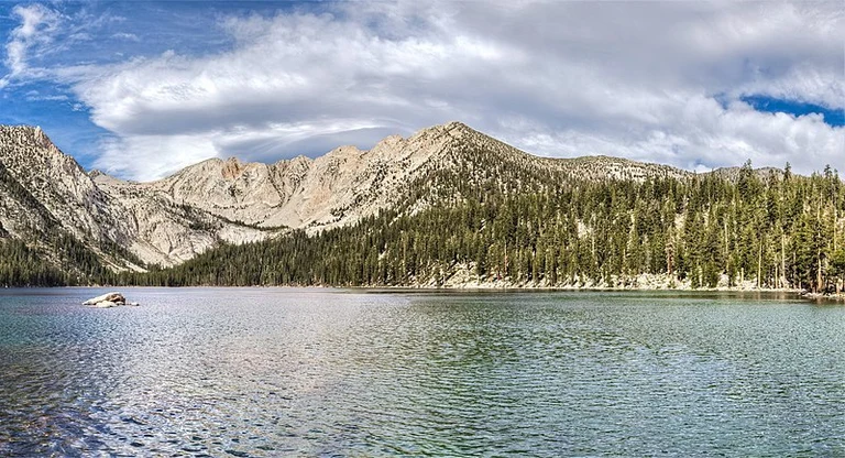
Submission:
[[[476,162],[479,153],[495,157],[497,166],[557,171],[586,179],[689,175],[665,165],[604,156],[538,157],[451,122],[408,139],[388,137],[369,151],[341,146],[314,160],[299,156],[275,164],[244,164],[212,159],[138,188],[255,227],[328,228],[396,204],[405,197],[408,183],[434,171]]]

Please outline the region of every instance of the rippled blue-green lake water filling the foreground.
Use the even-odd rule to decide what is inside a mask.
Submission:
[[[845,456],[845,306],[0,292],[0,456]]]

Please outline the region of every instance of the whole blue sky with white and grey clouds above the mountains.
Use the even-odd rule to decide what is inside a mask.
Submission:
[[[449,121],[529,153],[845,171],[845,3],[0,1],[0,123],[150,181]]]

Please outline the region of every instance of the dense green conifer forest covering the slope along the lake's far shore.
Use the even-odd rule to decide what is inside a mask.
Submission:
[[[736,176],[586,181],[469,151],[409,185],[404,206],[309,237],[222,246],[169,270],[109,274],[142,285],[834,290],[845,276],[845,186],[750,164]],[[434,205],[417,209],[422,199]]]

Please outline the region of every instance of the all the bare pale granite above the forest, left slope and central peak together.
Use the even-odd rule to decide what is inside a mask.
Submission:
[[[480,160],[495,166],[482,167]],[[407,190],[411,182],[457,168],[470,179],[514,168],[562,179],[691,176],[613,157],[538,157],[452,122],[408,139],[388,137],[370,151],[341,146],[317,159],[275,164],[211,159],[161,181],[134,183],[86,173],[39,128],[0,127],[0,237],[41,244],[48,253],[47,232],[61,233],[114,270],[166,266],[221,241],[256,241],[290,229],[314,232],[388,206],[420,208],[453,198],[445,197],[436,181],[429,195]],[[411,198],[417,201],[408,203]]]

